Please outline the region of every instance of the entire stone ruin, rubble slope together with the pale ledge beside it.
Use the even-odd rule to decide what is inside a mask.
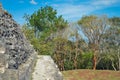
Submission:
[[[37,58],[20,25],[0,4],[0,80],[63,80],[50,56],[39,57],[34,68]]]

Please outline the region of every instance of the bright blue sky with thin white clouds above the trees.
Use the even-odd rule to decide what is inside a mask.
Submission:
[[[120,17],[120,0],[0,0],[5,10],[19,23],[24,24],[25,13],[32,14],[45,5],[57,10],[64,19],[77,21],[84,15]]]

